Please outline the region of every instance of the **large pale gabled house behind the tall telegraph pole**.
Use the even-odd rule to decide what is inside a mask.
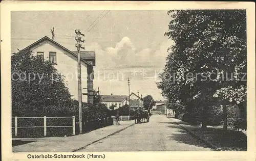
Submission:
[[[48,60],[59,73],[65,76],[66,87],[73,98],[78,100],[77,52],[70,51],[56,41],[45,36],[23,50],[29,49],[34,56]],[[93,67],[95,51],[81,51],[82,102],[93,103]],[[54,73],[53,73],[54,74]]]

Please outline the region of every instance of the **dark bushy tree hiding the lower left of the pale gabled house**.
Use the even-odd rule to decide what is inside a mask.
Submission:
[[[63,75],[29,50],[11,57],[12,115],[41,116],[72,105]]]

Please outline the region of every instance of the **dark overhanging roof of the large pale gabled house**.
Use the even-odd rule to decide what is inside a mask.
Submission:
[[[38,43],[40,43],[40,42],[42,42],[42,41],[45,41],[45,40],[52,42],[53,44],[57,45],[58,47],[62,48],[63,50],[68,51],[69,53],[71,53],[71,55],[73,55],[73,56],[75,56],[75,57],[77,58],[77,52],[74,53],[74,52],[70,51],[70,50],[67,49],[66,47],[60,45],[59,43],[57,43],[56,41],[50,39],[50,38],[47,37],[47,36],[42,37],[41,39],[37,40],[37,41],[34,42],[33,44],[31,44],[31,45],[27,46],[26,48],[22,49],[21,51],[26,50],[26,49],[29,49],[29,48],[35,46],[36,44],[38,44]],[[19,52],[20,52],[20,51],[19,51]],[[82,52],[84,52],[84,54],[83,54],[84,57],[81,57],[81,61],[84,62],[84,63],[86,63],[87,65],[92,66],[92,64],[90,64],[90,63],[87,62],[87,59],[86,59],[86,58],[87,58],[87,57],[86,57],[86,56],[87,56],[87,51],[82,51]],[[89,52],[90,52],[90,53],[91,53],[91,52],[94,52],[94,60],[95,60],[95,51],[89,51]],[[90,57],[90,58],[91,58],[91,57]],[[91,59],[90,59],[90,60],[91,60]]]

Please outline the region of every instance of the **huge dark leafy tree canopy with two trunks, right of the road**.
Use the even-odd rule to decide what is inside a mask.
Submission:
[[[158,87],[169,101],[186,110],[193,104],[190,111],[201,111],[203,129],[212,106],[222,103],[226,130],[228,100],[245,101],[246,81],[241,81],[241,72],[246,72],[245,10],[171,10],[168,14],[172,20],[165,35],[174,45],[168,48]],[[231,89],[235,96],[229,95]]]

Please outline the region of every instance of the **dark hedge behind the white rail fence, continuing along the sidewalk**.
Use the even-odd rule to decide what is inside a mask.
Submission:
[[[47,107],[48,108],[48,107]],[[79,115],[78,115],[78,102],[74,101],[73,106],[63,107],[63,110],[55,109],[55,106],[50,108],[51,111],[45,113],[38,113],[37,115],[29,115],[26,117],[56,117],[56,116],[75,116],[76,122],[76,132],[79,130]],[[55,111],[54,111],[55,110]],[[83,122],[83,132],[90,131],[92,129],[97,129],[103,126],[111,125],[107,123],[106,120],[110,118],[108,109],[103,106],[92,106],[87,103],[82,105],[82,122]],[[13,114],[13,117],[16,114]],[[16,115],[17,116],[17,115]],[[25,116],[17,116],[25,117]],[[99,121],[100,120],[100,121]],[[105,120],[105,123],[103,123]],[[112,119],[110,119],[111,121]],[[113,124],[113,121],[112,121]],[[31,119],[22,119],[18,118],[18,127],[19,126],[44,126],[44,118],[31,118]],[[47,126],[72,126],[72,118],[47,118]],[[12,127],[14,127],[14,119],[12,119]],[[47,127],[47,137],[62,137],[70,136],[73,133],[72,127]],[[78,132],[77,132],[78,133]],[[14,128],[12,130],[12,136],[14,137]],[[44,137],[44,128],[18,128],[17,137],[19,138],[40,138]]]

